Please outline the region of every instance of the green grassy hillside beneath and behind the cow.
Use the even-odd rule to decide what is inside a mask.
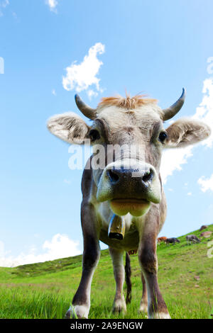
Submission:
[[[213,225],[206,230],[213,231]],[[198,230],[191,233],[200,237]],[[158,245],[158,281],[172,318],[211,317],[213,258],[207,256],[207,243],[212,235],[199,244],[189,245],[182,236],[180,244]],[[75,256],[0,268],[0,318],[63,318],[80,282],[81,264],[82,256]],[[126,315],[113,315],[113,269],[108,250],[102,251],[92,281],[90,318],[145,317],[138,315],[142,286],[137,255],[131,256],[131,268],[132,302]]]

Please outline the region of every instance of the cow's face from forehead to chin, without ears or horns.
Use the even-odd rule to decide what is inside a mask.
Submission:
[[[167,134],[157,106],[102,106],[89,136],[94,152],[104,147],[104,168],[93,168],[98,201],[110,201],[117,215],[137,216],[151,202],[160,202],[159,168]]]

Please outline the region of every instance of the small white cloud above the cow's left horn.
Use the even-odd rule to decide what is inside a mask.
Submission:
[[[84,56],[84,60],[80,64],[77,64],[76,61],[72,62],[70,67],[66,68],[66,76],[62,78],[63,87],[67,91],[75,89],[80,92],[85,90],[89,98],[102,92],[97,74],[103,62],[97,58],[97,55],[102,55],[104,51],[105,46],[102,43],[96,43],[89,48],[88,55]],[[93,86],[93,89],[89,89],[90,86]]]

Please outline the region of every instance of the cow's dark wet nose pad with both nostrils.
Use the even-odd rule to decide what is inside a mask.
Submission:
[[[131,179],[137,179],[137,181],[141,181],[144,186],[148,186],[154,176],[154,171],[151,167],[146,169],[108,169],[107,176],[109,177],[109,181],[111,184],[123,183],[123,181],[130,181]]]

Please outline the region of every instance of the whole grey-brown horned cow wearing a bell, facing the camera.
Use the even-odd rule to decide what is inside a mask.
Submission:
[[[77,108],[92,123],[88,125],[73,112],[48,120],[53,135],[70,144],[83,145],[89,140],[93,149],[82,175],[82,277],[67,317],[88,318],[101,240],[109,246],[114,266],[113,311],[126,311],[123,254],[138,249],[143,283],[139,310],[148,312],[149,318],[170,318],[157,278],[157,237],[167,210],[160,160],[164,148],[186,147],[210,135],[208,125],[190,118],[175,120],[165,129],[165,121],[180,111],[184,101],[182,89],[178,101],[165,109],[155,99],[128,94],[102,98],[97,108],[91,108],[75,95]],[[114,146],[124,147],[121,154],[115,154]],[[140,152],[132,146],[140,147]],[[97,147],[104,154],[100,167]],[[128,255],[126,258],[129,260]]]

